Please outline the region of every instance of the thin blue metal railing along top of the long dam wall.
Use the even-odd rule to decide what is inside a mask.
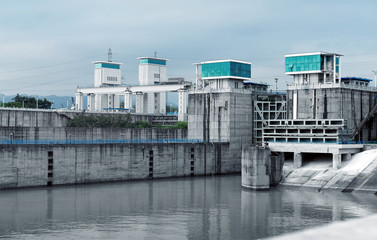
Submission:
[[[209,139],[209,143],[229,140]],[[202,139],[3,139],[0,145],[58,145],[58,144],[128,144],[128,143],[204,143]]]

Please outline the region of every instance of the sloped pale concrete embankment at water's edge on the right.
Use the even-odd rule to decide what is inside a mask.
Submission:
[[[342,163],[338,170],[293,169],[284,166],[282,185],[310,187],[318,191],[339,190],[343,192],[377,192],[377,150],[355,154],[351,160]]]

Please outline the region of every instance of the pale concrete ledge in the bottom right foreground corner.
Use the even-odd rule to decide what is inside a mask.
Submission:
[[[335,222],[323,227],[284,234],[270,239],[376,239],[376,222],[377,215],[372,215],[365,218]]]

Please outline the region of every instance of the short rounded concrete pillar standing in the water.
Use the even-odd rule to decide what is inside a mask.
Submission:
[[[271,151],[268,148],[242,148],[242,187],[263,190],[270,188],[270,176],[267,164],[270,162]]]

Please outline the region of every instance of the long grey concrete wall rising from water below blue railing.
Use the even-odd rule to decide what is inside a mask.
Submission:
[[[0,189],[236,172],[228,143],[0,146]]]

